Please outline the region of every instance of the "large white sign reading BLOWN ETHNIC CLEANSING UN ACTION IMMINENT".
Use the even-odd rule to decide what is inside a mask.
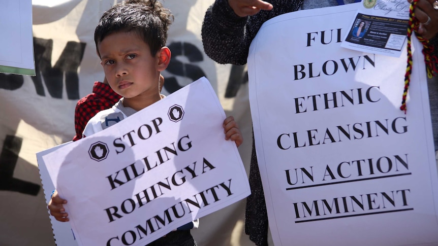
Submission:
[[[264,23],[248,57],[257,157],[275,245],[436,245],[426,73],[340,47],[354,5]]]

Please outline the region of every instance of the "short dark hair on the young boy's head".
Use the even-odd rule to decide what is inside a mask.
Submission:
[[[149,45],[151,55],[166,45],[174,17],[156,0],[128,0],[104,12],[95,30],[96,49],[113,32],[134,31]]]

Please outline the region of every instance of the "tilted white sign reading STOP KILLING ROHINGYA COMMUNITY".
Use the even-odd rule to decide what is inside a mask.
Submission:
[[[145,245],[248,196],[224,120],[215,92],[201,78],[44,155],[53,184],[68,200],[78,244]]]

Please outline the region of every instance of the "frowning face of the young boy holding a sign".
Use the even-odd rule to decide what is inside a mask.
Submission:
[[[125,98],[123,104],[136,98],[160,96],[159,55],[152,56],[149,45],[138,34],[111,33],[98,49],[105,77],[111,88]]]

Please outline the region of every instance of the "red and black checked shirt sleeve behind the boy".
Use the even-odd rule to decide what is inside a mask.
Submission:
[[[76,103],[75,109],[75,130],[76,136],[73,141],[82,138],[82,132],[88,121],[98,112],[111,108],[121,96],[115,93],[109,85],[96,81],[93,92],[88,94]]]

